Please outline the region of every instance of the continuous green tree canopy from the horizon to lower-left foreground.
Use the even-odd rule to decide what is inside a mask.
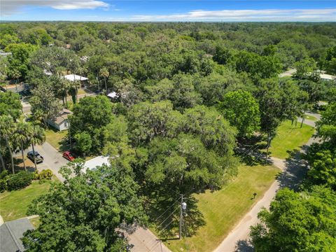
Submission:
[[[27,235],[27,246],[43,251],[65,242],[69,250],[118,250],[125,240],[109,224],[114,230],[123,221],[146,223],[141,206],[148,210],[172,203],[176,192],[189,196],[221,188],[237,174],[237,142],[262,134],[268,148],[281,122],[303,117],[321,99],[335,102],[335,81],[322,81],[316,71],[335,70],[334,28],[286,23],[1,24],[0,45],[12,52],[1,58],[6,65],[1,78],[29,83],[34,125],[44,127],[62,106],[71,106],[68,138],[73,148],[83,156],[111,157],[111,165],[98,171],[84,174],[83,167],[73,165],[77,176],[64,172],[60,193],[50,192],[31,209],[43,221]],[[278,78],[288,66],[297,68],[295,78]],[[64,73],[87,76],[87,87],[101,95],[78,101],[80,83],[62,78]],[[113,102],[104,95],[112,91],[118,95]],[[13,124],[13,131],[20,116],[20,106],[11,109],[14,104],[1,99],[7,108],[0,110],[1,120]],[[4,166],[13,160],[11,132],[1,131]],[[321,126],[318,132],[326,134],[330,127]],[[105,211],[113,206],[114,212]],[[57,225],[48,213],[59,216]],[[66,241],[49,234],[62,229],[67,230]],[[85,237],[94,234],[95,239],[84,242],[76,230],[87,230]],[[268,229],[260,230],[264,234]]]

